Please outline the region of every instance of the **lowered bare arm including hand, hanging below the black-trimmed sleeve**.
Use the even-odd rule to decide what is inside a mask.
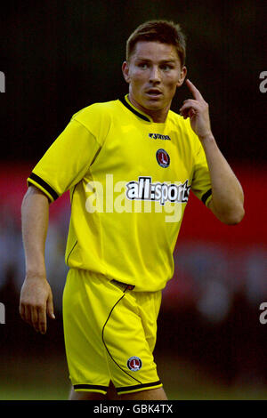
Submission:
[[[46,313],[54,319],[53,295],[44,264],[48,221],[48,197],[30,186],[21,205],[26,276],[20,292],[20,316],[41,334],[46,332]]]

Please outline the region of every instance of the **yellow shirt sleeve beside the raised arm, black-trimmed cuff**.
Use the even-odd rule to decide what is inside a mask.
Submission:
[[[198,152],[195,157],[191,190],[204,205],[207,205],[212,198],[210,174],[206,163],[205,151],[201,143],[199,143]]]

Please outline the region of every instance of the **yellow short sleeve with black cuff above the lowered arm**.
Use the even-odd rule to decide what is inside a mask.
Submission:
[[[53,202],[83,179],[101,145],[85,125],[72,118],[28,177]]]

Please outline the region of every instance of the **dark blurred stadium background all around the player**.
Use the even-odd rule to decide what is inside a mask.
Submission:
[[[246,219],[218,225],[192,199],[164,293],[155,358],[170,399],[266,399],[266,4],[240,1],[52,1],[1,6],[0,399],[67,399],[61,293],[68,198],[52,206],[48,278],[56,321],[36,334],[18,313],[26,178],[77,110],[127,92],[125,41],[145,20],[181,24],[190,79],[210,104],[214,136],[240,176]],[[188,92],[182,86],[174,111]]]

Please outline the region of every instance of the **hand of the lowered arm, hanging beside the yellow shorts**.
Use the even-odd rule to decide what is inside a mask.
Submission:
[[[36,332],[46,333],[46,314],[53,314],[53,295],[45,277],[26,277],[20,292],[20,317]]]

